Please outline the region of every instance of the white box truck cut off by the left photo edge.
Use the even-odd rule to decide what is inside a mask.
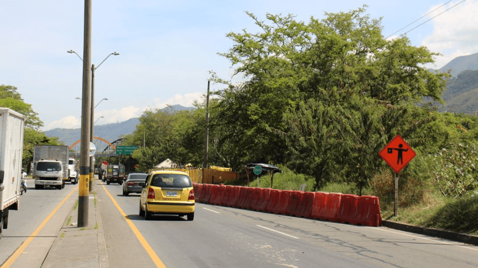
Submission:
[[[0,107],[0,237],[8,227],[9,210],[18,210],[25,116]]]

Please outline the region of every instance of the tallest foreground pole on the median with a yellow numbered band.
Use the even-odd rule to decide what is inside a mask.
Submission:
[[[88,200],[90,197],[91,2],[92,0],[85,0],[78,227],[88,226]]]

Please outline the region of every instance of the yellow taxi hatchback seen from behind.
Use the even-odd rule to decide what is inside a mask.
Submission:
[[[182,171],[157,170],[148,174],[140,197],[140,216],[173,214],[194,219],[194,189],[189,175]]]

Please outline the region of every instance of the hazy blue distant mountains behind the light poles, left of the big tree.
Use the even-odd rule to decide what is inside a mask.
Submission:
[[[185,107],[179,104],[170,105],[164,109],[178,111],[178,110],[191,110],[195,109],[194,107]],[[164,110],[163,109],[163,110]],[[108,123],[94,126],[94,136],[101,137],[108,140],[110,143],[115,142],[117,139],[124,137],[127,134],[132,134],[136,125],[140,123],[139,117],[130,118],[123,122],[117,123]],[[71,146],[81,138],[81,128],[54,128],[51,130],[45,131],[45,134],[49,137],[58,137],[61,142],[65,145]],[[97,150],[101,151],[104,148],[108,147],[106,142],[96,141],[95,145]],[[78,148],[73,147],[75,150],[80,150],[80,145],[78,143]]]

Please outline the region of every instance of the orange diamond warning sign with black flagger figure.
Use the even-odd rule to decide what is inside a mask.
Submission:
[[[396,173],[416,155],[400,135],[396,135],[378,154]]]

